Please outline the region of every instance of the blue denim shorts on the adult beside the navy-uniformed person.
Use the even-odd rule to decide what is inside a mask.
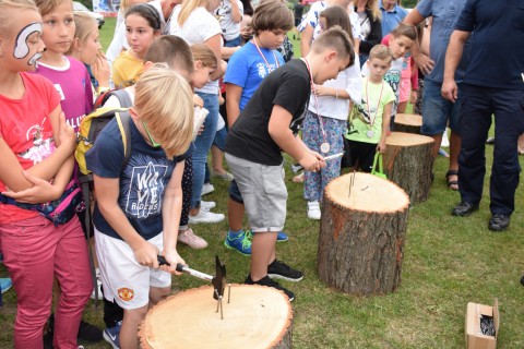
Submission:
[[[449,127],[461,134],[462,93],[458,87],[458,98],[455,103],[444,99],[441,94],[442,84],[428,79],[424,81],[422,127],[420,132],[426,135],[438,135]]]

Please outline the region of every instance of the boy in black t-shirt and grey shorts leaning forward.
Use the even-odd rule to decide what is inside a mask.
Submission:
[[[302,122],[311,84],[334,79],[354,61],[347,33],[340,28],[324,32],[303,59],[293,60],[267,75],[227,135],[226,160],[254,233],[251,273],[246,284],[281,289],[289,300],[295,298],[294,293],[270,278],[302,279],[301,272],[275,258],[276,234],[284,228],[287,201],[281,152],[288,153],[309,171],[325,166],[323,157],[308,149],[294,134]]]

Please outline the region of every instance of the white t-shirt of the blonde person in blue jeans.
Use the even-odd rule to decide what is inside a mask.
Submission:
[[[172,10],[172,19],[170,21],[169,34],[181,37],[189,46],[194,44],[203,44],[215,35],[221,35],[221,25],[218,21],[204,8],[196,8],[189,14],[183,26],[178,24],[181,5]],[[217,95],[218,81],[212,81],[204,87],[198,89],[201,93]]]

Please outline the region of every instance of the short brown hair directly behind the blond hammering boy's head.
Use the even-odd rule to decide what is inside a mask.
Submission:
[[[193,67],[193,55],[181,37],[175,35],[163,35],[155,39],[147,49],[144,62],[167,63],[176,70],[191,73]]]

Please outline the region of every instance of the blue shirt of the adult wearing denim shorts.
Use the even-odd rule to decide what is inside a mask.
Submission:
[[[450,44],[450,36],[453,33],[456,20],[461,15],[466,0],[422,0],[417,4],[417,11],[424,17],[433,17],[429,52],[434,61],[434,67],[430,74],[426,74],[426,79],[432,82],[440,84],[444,81],[445,50]],[[461,83],[464,79],[471,48],[471,40],[467,40],[455,72],[455,81],[457,83]]]

